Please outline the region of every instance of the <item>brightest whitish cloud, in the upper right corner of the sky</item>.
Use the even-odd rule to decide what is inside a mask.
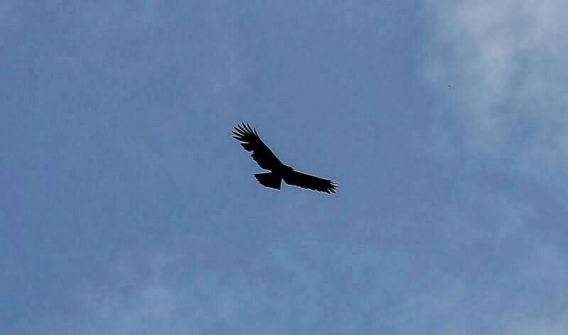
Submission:
[[[436,33],[427,76],[470,149],[513,157],[534,174],[568,165],[568,4],[431,1]],[[518,157],[518,158],[514,158]],[[537,162],[537,163],[535,163]]]

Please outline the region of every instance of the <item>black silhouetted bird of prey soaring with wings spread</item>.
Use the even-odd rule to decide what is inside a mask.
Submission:
[[[282,181],[290,186],[310,189],[323,193],[337,193],[338,181],[326,179],[311,174],[296,171],[292,166],[284,164],[272,150],[261,140],[256,129],[249,123],[239,123],[231,131],[233,138],[239,141],[241,146],[251,152],[251,157],[261,169],[270,172],[253,174],[258,183],[267,188],[280,190]]]

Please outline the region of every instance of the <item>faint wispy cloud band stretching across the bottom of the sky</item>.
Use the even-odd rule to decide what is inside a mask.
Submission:
[[[501,246],[519,243],[531,210],[501,203],[510,212],[474,225],[460,205],[423,208],[420,219],[400,217],[388,224],[353,220],[337,228],[339,234],[321,232],[309,218],[284,218],[283,225],[295,227],[238,266],[224,263],[214,254],[218,246],[205,237],[180,238],[161,251],[121,254],[109,263],[104,280],[72,290],[77,314],[50,316],[37,327],[58,334],[301,334],[305,329],[455,334],[502,329],[496,324],[503,320],[516,326],[507,323],[511,314],[526,316],[531,304],[546,297],[530,300],[535,296],[524,285],[552,290],[567,278],[561,254],[539,241],[523,253],[525,259],[499,266],[509,259],[500,254]],[[481,204],[481,210],[488,207]],[[479,252],[483,247],[487,250]],[[529,302],[520,304],[521,299]]]

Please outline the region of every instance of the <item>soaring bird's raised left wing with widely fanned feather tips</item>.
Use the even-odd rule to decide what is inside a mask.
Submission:
[[[262,142],[256,129],[253,129],[249,123],[241,123],[234,128],[233,138],[240,141],[246,151],[252,152],[251,157],[258,166],[265,170],[273,170],[278,165],[282,165],[280,159]]]

